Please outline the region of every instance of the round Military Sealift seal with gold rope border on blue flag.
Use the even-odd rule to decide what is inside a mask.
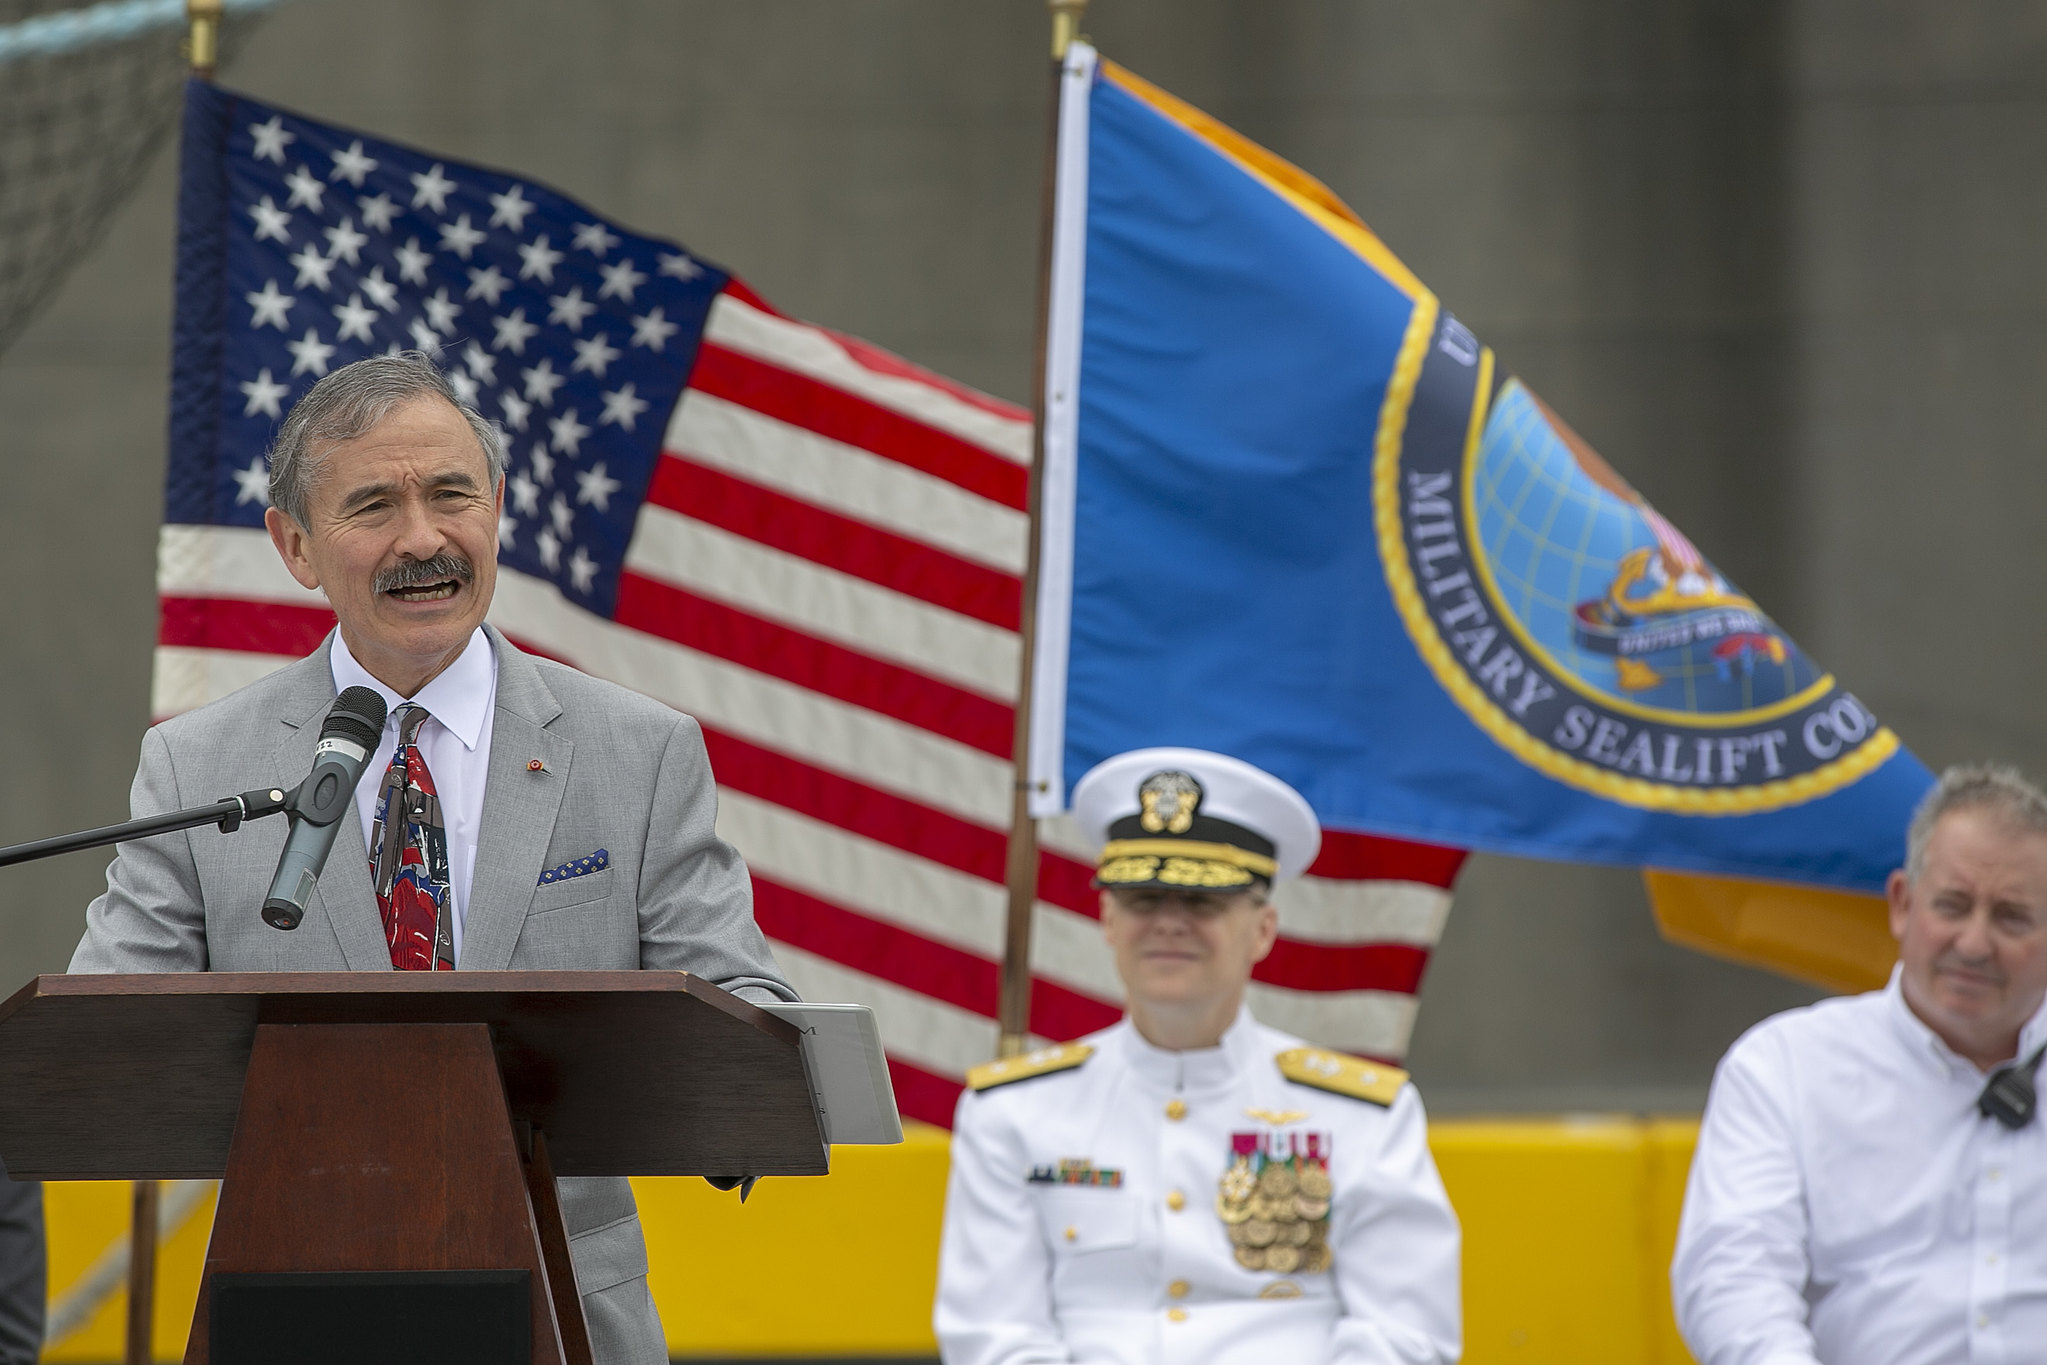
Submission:
[[[1748,814],[1898,749],[1670,522],[1427,295],[1380,417],[1380,557],[1431,671],[1539,772]]]

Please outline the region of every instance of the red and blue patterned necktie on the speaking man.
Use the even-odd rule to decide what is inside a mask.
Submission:
[[[397,708],[397,751],[377,788],[371,825],[371,880],[401,972],[452,972],[454,929],[448,925],[448,827],[440,819],[434,774],[420,755],[426,708]]]

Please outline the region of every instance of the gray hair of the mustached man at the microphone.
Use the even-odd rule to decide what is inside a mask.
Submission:
[[[506,473],[506,446],[497,428],[454,395],[448,377],[426,352],[401,350],[395,356],[368,356],[344,364],[305,391],[270,446],[270,505],[307,524],[305,508],[313,479],[325,469],[328,448],[338,440],[354,440],[416,397],[434,395],[463,413],[483,448],[491,471],[491,487]]]

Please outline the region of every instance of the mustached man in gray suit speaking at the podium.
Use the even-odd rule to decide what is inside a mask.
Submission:
[[[696,722],[483,624],[504,452],[430,360],[373,356],[313,385],[270,452],[270,503],[278,555],[325,591],[340,630],[151,729],[131,806],[143,817],[295,780],[338,692],[368,686],[391,716],[358,821],[344,819],[291,933],[258,917],[282,821],[123,843],[74,972],[678,968],[753,1001],[796,999],[753,923],[745,866],[714,831]],[[422,794],[432,853],[395,860],[383,817],[420,814]],[[405,804],[381,810],[385,796]],[[416,849],[426,817],[407,829]],[[393,862],[409,864],[395,880]],[[665,1361],[626,1181],[565,1179],[561,1203],[598,1361]]]

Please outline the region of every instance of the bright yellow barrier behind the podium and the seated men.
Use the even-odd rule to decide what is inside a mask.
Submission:
[[[1693,1119],[1439,1121],[1431,1146],[1464,1220],[1470,1365],[1687,1365],[1668,1265]],[[946,1134],[839,1148],[821,1181],[761,1181],[739,1205],[694,1179],[635,1181],[669,1351],[935,1355],[931,1285]],[[49,1271],[61,1295],[127,1236],[129,1187],[49,1185]],[[211,1201],[164,1244],[156,1357],[174,1361],[199,1297]],[[47,1361],[121,1359],[115,1293]]]

